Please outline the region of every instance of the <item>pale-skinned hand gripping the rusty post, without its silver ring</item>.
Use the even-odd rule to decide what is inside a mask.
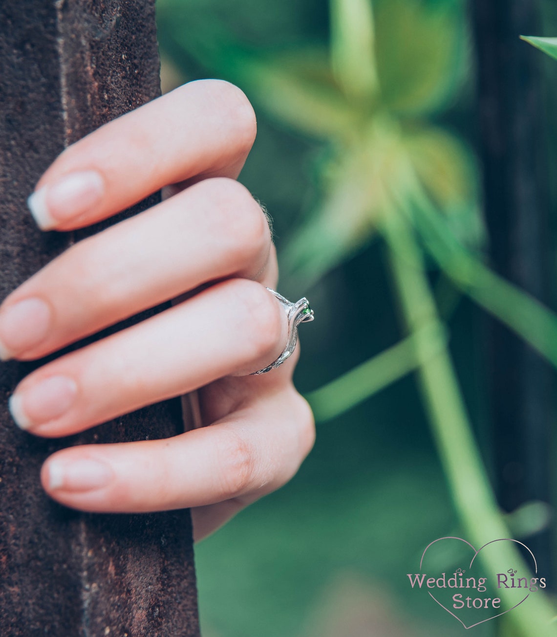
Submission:
[[[51,455],[41,482],[60,503],[90,512],[191,507],[199,540],[286,483],[311,450],[311,410],[292,384],[297,352],[250,376],[278,357],[287,331],[264,287],[278,279],[269,225],[236,182],[255,131],[241,90],[191,82],[67,148],[39,180],[31,208],[55,231],[109,218],[159,189],[167,198],[77,243],[4,299],[3,359],[38,359],[174,304],[24,378],[10,404],[17,424],[67,436],[192,390],[203,420],[174,438]]]

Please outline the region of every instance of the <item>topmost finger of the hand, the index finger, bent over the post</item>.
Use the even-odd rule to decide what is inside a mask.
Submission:
[[[253,109],[228,82],[185,84],[74,143],[29,197],[41,229],[71,230],[129,208],[166,185],[236,178],[255,140]]]

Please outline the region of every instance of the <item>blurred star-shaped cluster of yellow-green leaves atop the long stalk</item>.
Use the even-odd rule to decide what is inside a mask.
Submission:
[[[362,248],[377,218],[393,210],[390,191],[408,157],[457,236],[481,245],[472,155],[448,132],[407,122],[440,108],[458,85],[466,59],[459,11],[422,0],[330,0],[330,51],[274,54],[239,45],[211,17],[196,32],[168,24],[183,50],[272,117],[330,143],[321,202],[281,250],[283,277],[309,285]]]

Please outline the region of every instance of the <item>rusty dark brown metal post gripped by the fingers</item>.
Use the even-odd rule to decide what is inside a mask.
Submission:
[[[25,199],[41,173],[64,145],[158,94],[152,0],[0,3],[0,299],[94,231],[36,229]],[[83,514],[39,483],[41,464],[60,447],[179,433],[179,401],[41,440],[19,431],[7,410],[31,368],[0,364],[0,634],[199,634],[187,510]]]

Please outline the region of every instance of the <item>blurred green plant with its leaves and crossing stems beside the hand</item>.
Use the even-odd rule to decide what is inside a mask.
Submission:
[[[173,0],[159,6],[178,7]],[[557,38],[525,38],[557,58]],[[174,32],[174,46],[238,83],[279,125],[327,147],[320,199],[281,252],[287,287],[304,289],[369,243],[383,242],[403,340],[308,398],[318,420],[417,372],[423,405],[469,539],[510,536],[477,449],[427,275],[433,262],[460,293],[557,366],[557,317],[484,263],[474,155],[436,120],[469,66],[460,3],[330,0],[330,43],[242,45],[213,20]],[[459,469],[465,466],[463,473]],[[517,564],[514,552],[509,559]],[[504,596],[504,593],[502,594]],[[518,634],[546,634],[537,596],[513,615]]]

